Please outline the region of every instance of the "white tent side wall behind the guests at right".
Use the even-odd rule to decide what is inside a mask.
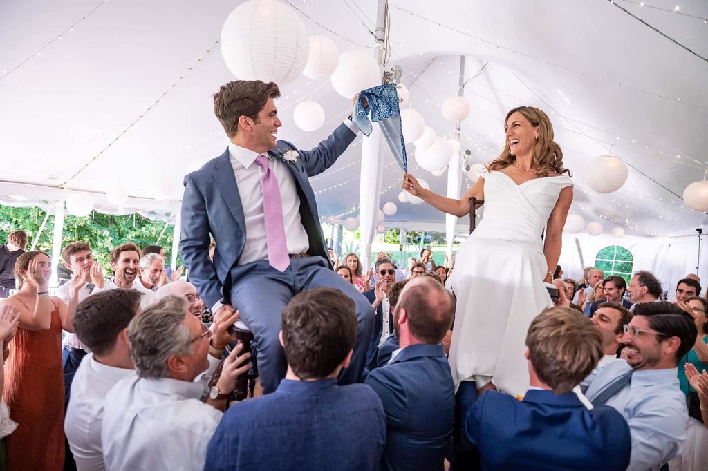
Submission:
[[[580,252],[583,254],[581,262]],[[698,239],[686,237],[636,237],[615,238],[610,234],[589,236],[588,234],[563,235],[563,249],[559,264],[563,267],[565,278],[578,279],[583,276],[583,268],[595,264],[598,252],[609,245],[621,245],[632,252],[634,265],[632,272],[649,270],[661,281],[663,289],[668,291],[669,300],[673,300],[676,282],[686,274],[696,272]],[[708,280],[708,250],[701,244],[699,275],[703,286]]]

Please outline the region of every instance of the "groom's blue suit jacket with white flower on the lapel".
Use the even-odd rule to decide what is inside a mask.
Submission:
[[[300,219],[309,238],[308,253],[324,257],[330,265],[308,178],[329,168],[355,137],[346,124],[341,124],[310,151],[295,149],[287,141],[278,141],[278,146],[268,151],[273,158],[281,158],[284,151],[297,151],[297,160],[287,168],[297,183]],[[207,306],[214,306],[222,298],[230,303],[231,288],[248,272],[249,264],[238,265],[246,244],[246,220],[229,150],[187,175],[184,186],[179,248],[189,279]],[[210,233],[216,242],[213,263],[209,260]]]

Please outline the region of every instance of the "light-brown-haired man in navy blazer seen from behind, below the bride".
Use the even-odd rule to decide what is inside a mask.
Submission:
[[[612,407],[586,409],[572,392],[603,355],[600,332],[590,319],[570,308],[547,308],[531,322],[526,345],[531,388],[524,399],[490,390],[464,411],[463,434],[479,448],[482,466],[489,471],[627,469],[632,448],[627,421]]]

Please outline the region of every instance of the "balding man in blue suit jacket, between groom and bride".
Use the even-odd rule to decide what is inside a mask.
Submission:
[[[386,412],[382,469],[443,469],[455,424],[455,383],[440,342],[454,316],[454,298],[434,279],[418,277],[401,292],[394,310],[401,349],[366,377]]]

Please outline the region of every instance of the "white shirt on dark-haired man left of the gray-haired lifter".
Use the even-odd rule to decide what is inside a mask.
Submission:
[[[81,361],[72,382],[72,400],[64,419],[64,432],[81,471],[103,470],[101,424],[105,396],[115,383],[134,370],[99,363],[89,354]]]

